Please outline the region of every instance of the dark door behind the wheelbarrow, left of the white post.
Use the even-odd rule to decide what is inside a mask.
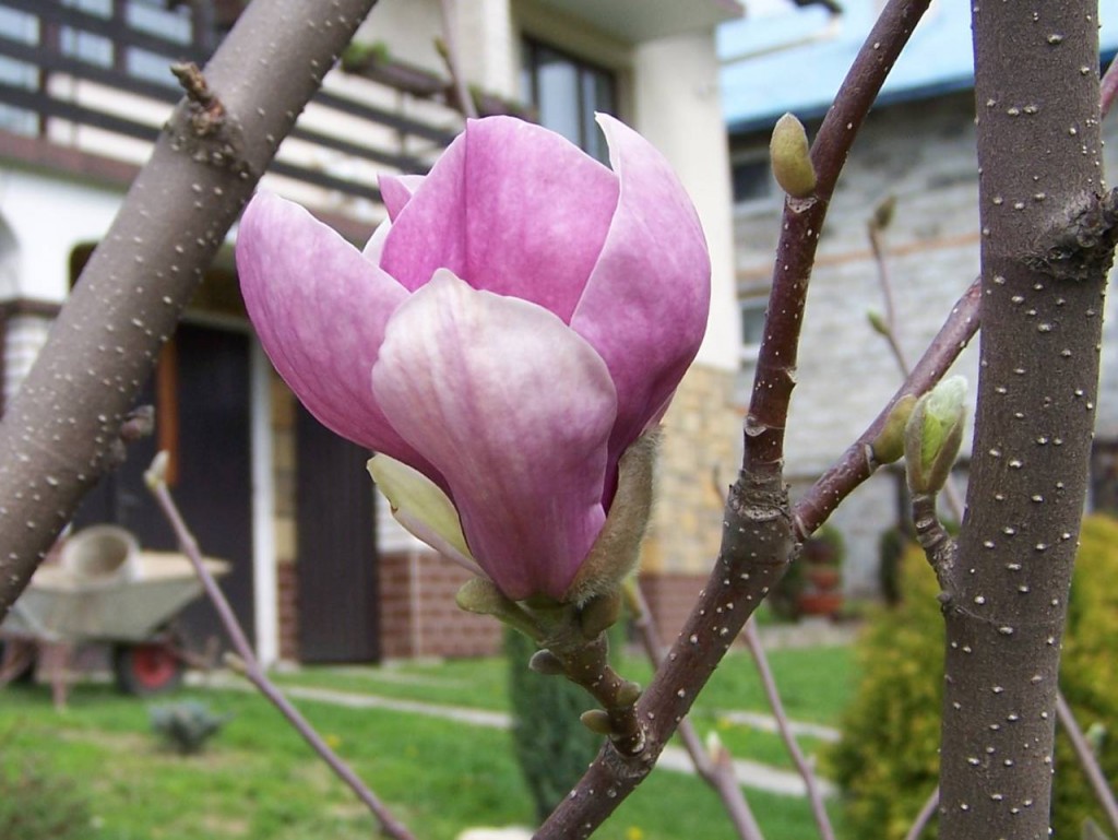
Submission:
[[[167,519],[143,482],[157,447],[173,451],[171,492],[202,553],[228,560],[220,579],[249,639],[253,625],[253,500],[248,337],[183,324],[173,352],[138,404],[157,405],[157,434],[129,446],[127,461],[89,493],[75,526],[114,522],[152,550],[177,550]],[[186,610],[181,626],[200,644],[225,640],[205,601]]]

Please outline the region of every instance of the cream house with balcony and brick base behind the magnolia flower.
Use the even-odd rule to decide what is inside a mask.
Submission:
[[[0,0],[0,359],[3,399],[104,237],[179,98],[172,62],[201,64],[243,3]],[[310,4],[313,6],[313,4]],[[735,470],[737,315],[728,154],[714,27],[727,0],[476,0],[453,27],[485,112],[537,119],[603,157],[593,111],[616,114],[672,162],[709,238],[707,340],[665,417],[659,506],[643,574],[672,625],[717,553]],[[353,242],[383,218],[380,172],[423,172],[462,128],[435,47],[437,0],[381,0],[325,78],[263,187]],[[218,92],[220,93],[220,92]],[[231,238],[230,238],[231,242]],[[155,279],[153,279],[154,281]],[[318,424],[272,370],[244,315],[227,247],[167,345],[141,402],[157,431],[87,499],[75,527],[117,522],[151,548],[173,538],[141,480],[157,449],[265,661],[371,661],[495,649],[495,622],[454,606],[457,567],[400,530],[368,453]],[[727,481],[729,478],[727,478]],[[212,632],[205,606],[188,631]]]

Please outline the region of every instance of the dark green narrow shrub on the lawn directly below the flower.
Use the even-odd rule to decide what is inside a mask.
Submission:
[[[601,745],[579,715],[594,699],[562,677],[544,677],[528,667],[536,644],[513,630],[505,631],[512,739],[528,790],[542,822],[570,792]]]

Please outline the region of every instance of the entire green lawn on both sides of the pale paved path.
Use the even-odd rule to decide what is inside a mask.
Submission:
[[[778,651],[773,666],[797,717],[834,723],[853,685],[845,649]],[[628,669],[645,679],[639,663]],[[385,669],[309,670],[285,681],[376,691],[429,702],[501,710],[501,660],[407,663]],[[785,764],[776,736],[727,726],[719,709],[765,708],[748,657],[720,669],[695,719],[717,728],[739,757]],[[26,762],[73,780],[95,817],[83,840],[356,840],[370,818],[255,695],[190,691],[235,715],[203,754],[180,757],[150,733],[149,704],[102,686],[78,686],[56,712],[45,687],[0,691],[0,778]],[[476,824],[527,824],[528,796],[510,736],[484,727],[318,702],[300,707],[362,778],[421,840],[452,840]],[[811,744],[808,743],[808,746]],[[16,795],[0,790],[0,799]],[[815,838],[806,802],[749,792],[769,840]],[[701,782],[657,771],[596,836],[604,840],[722,840],[731,829]],[[22,840],[22,838],[20,839]],[[32,839],[28,839],[32,840]]]

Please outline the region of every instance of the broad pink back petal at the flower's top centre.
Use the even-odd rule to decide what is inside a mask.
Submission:
[[[380,265],[410,290],[445,267],[569,321],[617,206],[617,178],[512,117],[471,121],[392,219]]]

